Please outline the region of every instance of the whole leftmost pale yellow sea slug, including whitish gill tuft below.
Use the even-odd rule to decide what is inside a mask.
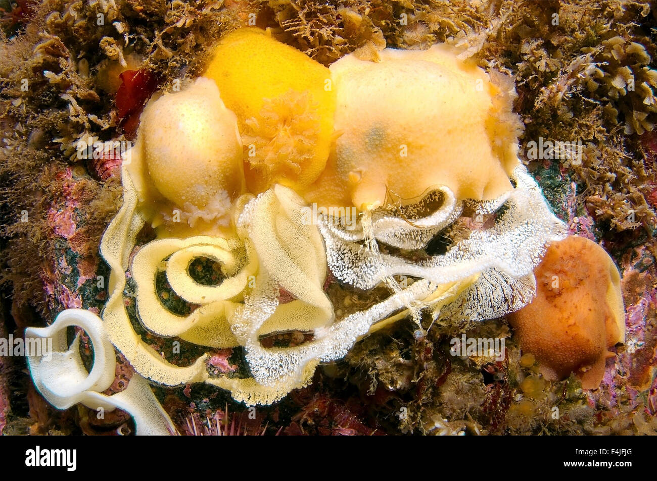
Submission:
[[[154,97],[141,114],[124,160],[143,219],[158,236],[235,235],[231,219],[245,192],[235,114],[219,89],[200,77]]]

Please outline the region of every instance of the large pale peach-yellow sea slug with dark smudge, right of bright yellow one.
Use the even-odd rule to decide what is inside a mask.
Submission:
[[[512,114],[512,85],[493,83],[447,45],[384,49],[379,57],[350,54],[330,66],[334,158],[306,197],[340,202],[334,186],[340,182],[365,210],[384,204],[386,194],[417,198],[436,184],[458,199],[493,199],[511,190],[522,129]]]

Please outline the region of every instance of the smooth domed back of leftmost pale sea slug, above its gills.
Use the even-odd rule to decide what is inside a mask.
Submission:
[[[149,102],[140,119],[148,177],[171,202],[198,209],[244,192],[237,117],[214,81],[200,77],[183,91]]]

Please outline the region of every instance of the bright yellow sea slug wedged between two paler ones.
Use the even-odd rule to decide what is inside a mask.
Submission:
[[[299,190],[325,168],[333,132],[329,70],[302,52],[248,28],[221,39],[203,74],[237,115],[251,192],[275,183]]]

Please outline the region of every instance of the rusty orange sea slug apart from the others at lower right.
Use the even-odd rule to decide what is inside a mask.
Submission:
[[[535,272],[532,303],[510,314],[525,353],[535,356],[546,379],[576,373],[595,389],[604,376],[608,348],[625,341],[620,274],[597,243],[571,236],[549,245]]]

